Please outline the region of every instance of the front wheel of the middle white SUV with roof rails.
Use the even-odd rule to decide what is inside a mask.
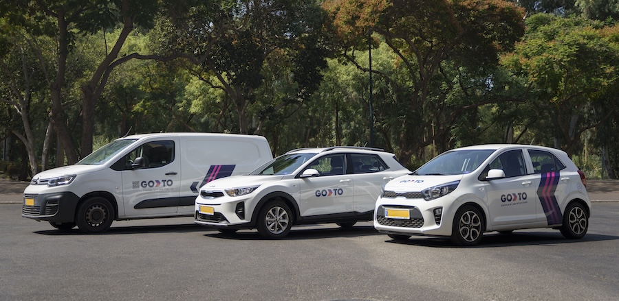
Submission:
[[[290,208],[281,201],[265,204],[258,213],[258,233],[265,239],[281,239],[292,228]]]

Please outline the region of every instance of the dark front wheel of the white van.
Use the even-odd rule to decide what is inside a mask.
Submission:
[[[91,197],[83,202],[75,217],[82,232],[102,233],[109,229],[114,219],[114,208],[105,197]]]

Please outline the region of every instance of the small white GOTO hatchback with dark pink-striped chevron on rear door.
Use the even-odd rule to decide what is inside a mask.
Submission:
[[[589,226],[585,174],[565,152],[532,145],[453,149],[384,186],[374,228],[476,245],[484,232],[556,228],[579,239]]]

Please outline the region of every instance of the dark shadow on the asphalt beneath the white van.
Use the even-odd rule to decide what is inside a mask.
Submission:
[[[175,233],[175,232],[204,232],[211,231],[210,229],[198,226],[196,224],[180,224],[180,225],[154,225],[154,226],[125,226],[112,227],[109,230],[98,234],[87,234],[80,231],[78,228],[71,230],[43,230],[34,231],[36,234],[43,235],[119,235],[119,234],[142,234],[142,233]]]

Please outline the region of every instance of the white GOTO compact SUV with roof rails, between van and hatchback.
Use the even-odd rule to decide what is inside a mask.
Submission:
[[[224,233],[257,228],[268,239],[285,237],[298,224],[350,227],[371,221],[382,186],[410,172],[382,149],[295,149],[248,176],[202,186],[195,223]]]

